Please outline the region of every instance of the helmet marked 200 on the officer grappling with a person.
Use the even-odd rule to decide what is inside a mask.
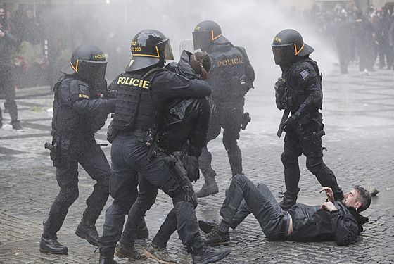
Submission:
[[[158,30],[142,30],[132,39],[132,59],[125,71],[132,72],[173,60],[170,39]],[[163,66],[161,65],[161,66]]]

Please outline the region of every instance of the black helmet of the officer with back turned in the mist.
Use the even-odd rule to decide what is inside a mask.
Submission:
[[[222,35],[220,26],[212,20],[205,20],[198,23],[192,34],[195,50],[204,50],[213,44],[229,43],[229,40]]]

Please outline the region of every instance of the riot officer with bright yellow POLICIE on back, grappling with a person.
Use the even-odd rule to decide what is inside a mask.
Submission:
[[[173,201],[179,238],[192,253],[195,263],[209,263],[227,256],[228,250],[205,247],[193,201],[184,182],[179,182],[157,149],[158,125],[163,106],[177,97],[204,97],[211,93],[208,83],[189,80],[163,68],[173,59],[170,40],[158,30],[143,30],[132,39],[132,59],[110,87],[116,87],[117,98],[112,140],[110,194],[113,204],[106,211],[103,236],[98,239],[100,264],[113,264],[113,254],[120,239],[125,215],[129,222],[141,222],[155,201],[157,188]],[[139,177],[139,179],[138,179]],[[127,212],[127,205],[139,197]],[[186,201],[187,200],[187,201]]]

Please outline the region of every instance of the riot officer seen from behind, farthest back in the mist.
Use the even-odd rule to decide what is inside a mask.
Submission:
[[[193,44],[194,49],[206,51],[212,57],[208,83],[212,87],[213,107],[208,141],[215,139],[223,127],[223,144],[232,175],[241,174],[242,155],[237,140],[241,127],[245,129],[250,121],[248,113],[243,113],[243,105],[246,93],[253,88],[255,71],[245,49],[231,44],[214,21],[205,20],[196,25]],[[215,182],[216,172],[212,169],[212,155],[207,146],[203,148],[199,161],[205,183],[197,191],[197,196],[216,194],[219,191]]]

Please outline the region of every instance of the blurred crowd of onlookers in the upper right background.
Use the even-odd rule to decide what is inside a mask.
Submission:
[[[314,26],[319,39],[336,49],[342,74],[348,73],[349,63],[357,63],[365,75],[377,69],[394,70],[393,5],[371,5],[365,11],[355,4],[337,4],[326,11],[314,5],[299,15]]]

